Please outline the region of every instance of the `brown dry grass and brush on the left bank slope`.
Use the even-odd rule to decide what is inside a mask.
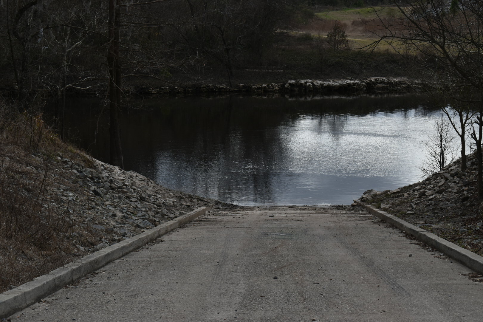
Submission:
[[[68,176],[56,166],[59,155],[89,162],[40,115],[0,101],[0,292],[72,260],[75,209],[52,193]]]

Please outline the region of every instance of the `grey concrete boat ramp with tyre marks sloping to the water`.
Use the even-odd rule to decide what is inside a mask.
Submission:
[[[11,321],[481,322],[483,283],[360,207],[213,210]]]

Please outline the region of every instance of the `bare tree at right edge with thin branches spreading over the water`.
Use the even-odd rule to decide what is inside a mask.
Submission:
[[[470,135],[476,143],[478,194],[483,199],[483,2],[406,0],[393,3],[397,16],[391,20],[378,17],[369,23],[379,37],[373,45],[389,43],[401,56],[412,59],[415,75],[426,84],[428,91],[436,90],[444,100],[457,102],[455,106],[462,111],[477,111]],[[464,128],[468,126],[465,115],[468,114],[462,112]],[[462,123],[459,128],[464,135]]]

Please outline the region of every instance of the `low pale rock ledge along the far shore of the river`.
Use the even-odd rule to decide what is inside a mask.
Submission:
[[[371,77],[362,80],[291,80],[286,83],[236,84],[233,86],[217,84],[186,84],[165,87],[142,87],[132,89],[139,95],[199,95],[206,93],[285,93],[285,94],[323,94],[323,93],[387,93],[409,92],[421,87],[416,81],[406,78]]]

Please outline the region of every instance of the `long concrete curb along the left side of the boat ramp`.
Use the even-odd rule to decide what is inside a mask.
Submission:
[[[189,223],[203,215],[206,211],[212,209],[213,205],[198,208],[183,216],[170,220],[167,223],[146,230],[144,233],[87,255],[76,262],[54,269],[50,273],[39,276],[13,290],[1,293],[0,319],[6,318],[23,308],[27,308],[45,296],[61,289],[63,286],[70,284],[115,259],[142,247],[151,240],[169,233],[182,224]]]

